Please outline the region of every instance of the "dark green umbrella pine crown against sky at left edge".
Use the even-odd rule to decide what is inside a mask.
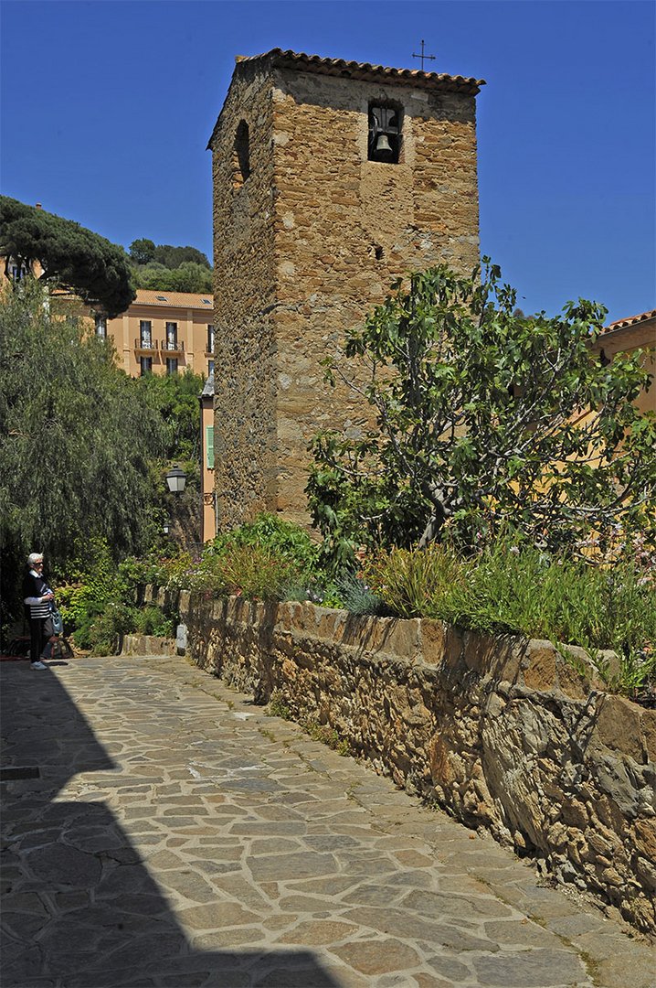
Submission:
[[[0,196],[0,254],[31,270],[42,281],[70,288],[109,318],[124,312],[135,297],[122,247],[70,219]]]

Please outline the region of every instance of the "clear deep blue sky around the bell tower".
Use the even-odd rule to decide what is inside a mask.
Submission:
[[[236,54],[483,78],[481,249],[526,311],[656,307],[652,0],[0,0],[0,183],[127,247],[211,259],[210,154]]]

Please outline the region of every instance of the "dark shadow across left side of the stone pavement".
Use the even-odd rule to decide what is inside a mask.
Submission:
[[[309,951],[191,947],[107,806],[56,801],[118,768],[67,691],[26,663],[2,664],[0,685],[3,988],[338,988]]]

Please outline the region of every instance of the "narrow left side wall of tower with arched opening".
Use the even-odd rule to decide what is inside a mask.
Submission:
[[[276,341],[271,81],[253,69],[233,83],[211,138],[214,190],[217,523],[230,527],[276,492]],[[240,173],[239,125],[251,174]]]

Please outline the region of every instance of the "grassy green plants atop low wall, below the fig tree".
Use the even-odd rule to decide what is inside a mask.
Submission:
[[[444,546],[381,551],[367,560],[364,578],[400,617],[579,645],[593,658],[613,650],[620,670],[601,671],[635,696],[650,682],[656,688],[656,581],[647,560],[593,565],[501,537],[469,558]]]

